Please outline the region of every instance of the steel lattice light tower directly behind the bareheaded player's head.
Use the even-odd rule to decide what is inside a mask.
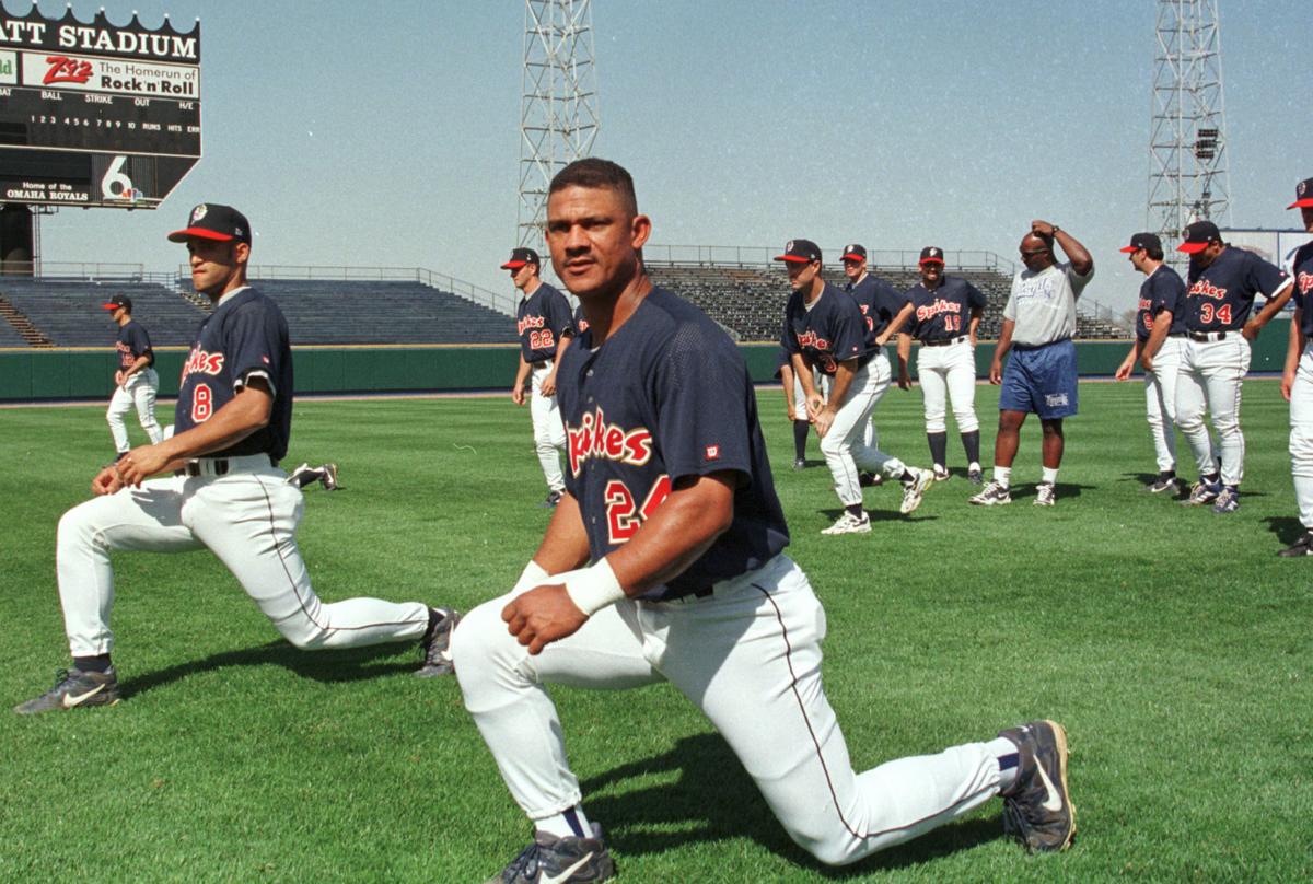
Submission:
[[[519,244],[542,250],[548,185],[592,152],[597,76],[591,0],[525,0]]]

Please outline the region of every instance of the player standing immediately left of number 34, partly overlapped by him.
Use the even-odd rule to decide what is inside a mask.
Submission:
[[[1149,483],[1153,494],[1175,493],[1176,479],[1176,373],[1186,340],[1183,307],[1186,284],[1180,275],[1163,264],[1162,240],[1142,232],[1130,238],[1121,251],[1145,275],[1136,309],[1136,343],[1113,373],[1119,381],[1130,377],[1136,363],[1145,369],[1145,410],[1149,432],[1158,456],[1158,478]]]

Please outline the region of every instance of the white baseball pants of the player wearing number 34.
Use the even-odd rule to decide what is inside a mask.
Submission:
[[[1213,447],[1204,410],[1213,416],[1222,485],[1245,478],[1245,435],[1239,430],[1239,389],[1249,372],[1249,342],[1239,332],[1225,340],[1186,339],[1176,374],[1176,426],[1195,453],[1200,475],[1212,473]]]

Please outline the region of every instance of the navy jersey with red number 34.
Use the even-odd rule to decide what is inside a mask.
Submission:
[[[1233,331],[1242,328],[1254,296],[1272,297],[1287,282],[1285,272],[1254,252],[1228,246],[1208,267],[1190,261],[1186,290],[1186,328]]]

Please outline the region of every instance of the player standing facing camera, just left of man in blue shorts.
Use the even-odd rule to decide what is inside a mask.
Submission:
[[[952,399],[957,432],[966,451],[966,478],[981,483],[981,424],[976,418],[976,331],[985,314],[985,296],[964,278],[944,273],[944,250],[920,250],[920,282],[907,290],[911,324],[898,334],[898,386],[911,387],[907,360],[911,340],[926,407],[926,439],[936,479],[948,478],[947,401]]]

